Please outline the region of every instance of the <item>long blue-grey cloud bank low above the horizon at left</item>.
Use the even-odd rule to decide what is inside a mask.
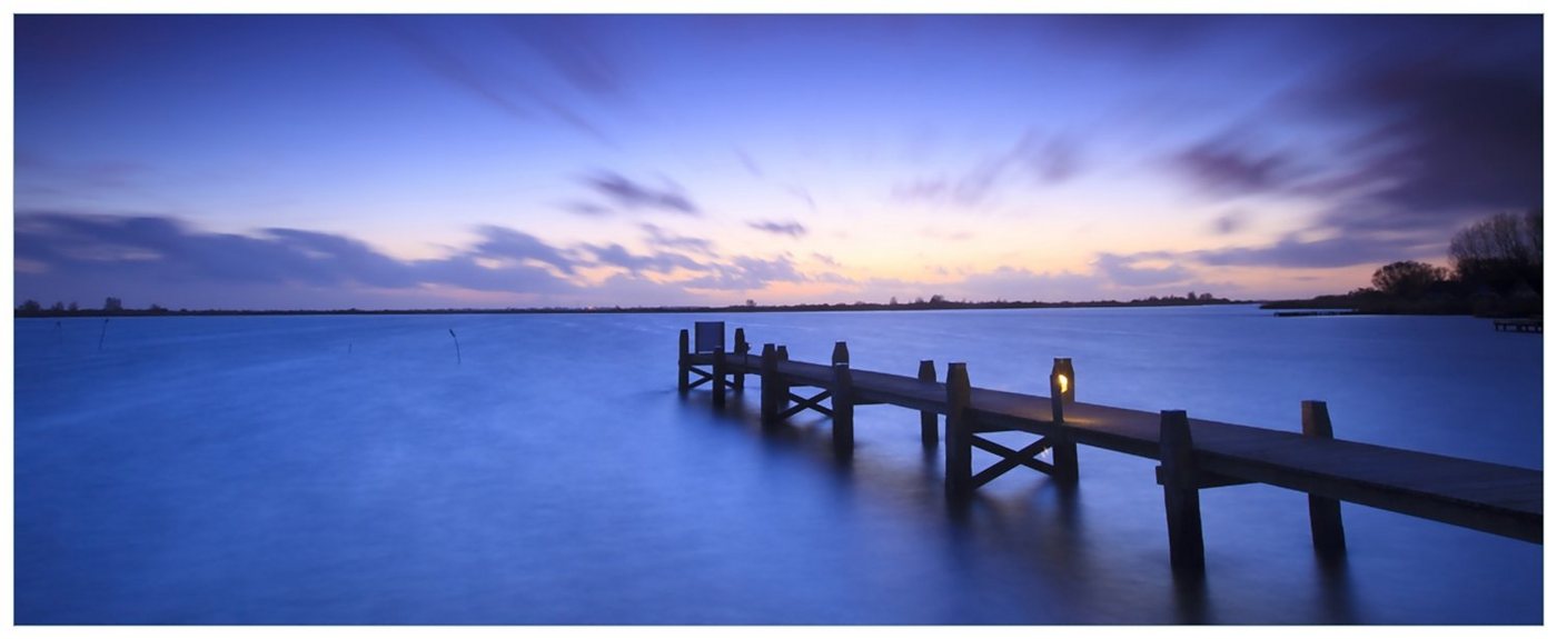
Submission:
[[[16,260],[26,269],[17,269],[17,294],[107,295],[157,286],[170,291],[171,285],[182,297],[179,303],[190,306],[209,306],[212,302],[202,300],[232,299],[238,291],[266,291],[277,297],[244,300],[241,306],[297,308],[296,300],[318,300],[322,291],[333,291],[333,302],[316,305],[344,308],[357,305],[364,291],[420,294],[434,288],[599,303],[609,299],[610,288],[621,288],[634,295],[655,292],[660,302],[648,303],[670,303],[688,299],[688,291],[842,281],[835,274],[817,275],[821,280],[807,275],[788,255],[726,257],[705,239],[645,229],[668,250],[635,252],[617,243],[556,246],[522,230],[483,225],[475,243],[453,247],[445,257],[397,260],[350,236],[299,229],[210,233],[165,216],[22,211],[16,218]],[[609,277],[610,286],[582,275],[598,269],[620,275]],[[659,281],[643,274],[655,274]]]

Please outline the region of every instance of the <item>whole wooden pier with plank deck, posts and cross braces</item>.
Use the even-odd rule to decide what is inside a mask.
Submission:
[[[680,331],[682,393],[710,384],[713,404],[724,406],[730,387],[744,389],[746,376],[757,375],[764,424],[802,410],[828,415],[838,454],[853,451],[856,406],[919,410],[925,446],[937,445],[936,417],[944,415],[945,487],[951,499],[965,499],[1018,466],[1057,482],[1077,482],[1076,446],[1158,460],[1155,480],[1163,487],[1176,572],[1205,571],[1199,491],[1238,484],[1308,493],[1314,547],[1325,558],[1345,553],[1342,501],[1541,543],[1541,471],[1337,440],[1323,401],[1302,404],[1299,434],[1194,420],[1185,410],[1152,414],[1077,403],[1070,359],[1054,361],[1049,395],[1037,396],[973,387],[965,364],[948,364],[945,381],[936,381],[930,361],[920,362],[916,375],[853,368],[844,342],[835,345],[830,364],[811,364],[791,361],[788,350],[775,344],[752,354],[740,328],[727,353],[722,322],[698,322],[696,330],[696,345],[688,331]],[[817,392],[796,393],[800,387]],[[981,437],[1010,431],[1037,438],[1012,449]],[[975,448],[1000,460],[975,471]],[[1051,462],[1037,459],[1043,451],[1053,451]]]

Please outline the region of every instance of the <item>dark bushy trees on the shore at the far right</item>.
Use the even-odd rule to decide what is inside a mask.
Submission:
[[[1450,264],[1395,261],[1373,272],[1373,286],[1260,308],[1351,309],[1375,314],[1541,314],[1541,210],[1499,213],[1454,233]]]

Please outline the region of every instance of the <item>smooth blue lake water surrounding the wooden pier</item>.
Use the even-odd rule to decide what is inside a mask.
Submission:
[[[16,322],[19,623],[1540,623],[1541,546],[1306,499],[1202,493],[1177,586],[1155,462],[1081,449],[965,513],[914,412],[763,432],[676,393],[676,333],[825,361],[1541,468],[1541,342],[1468,317],[1252,306]],[[459,362],[448,334],[459,336]],[[103,342],[101,351],[98,342]],[[975,460],[979,465],[979,460]],[[984,462],[987,463],[987,462]]]

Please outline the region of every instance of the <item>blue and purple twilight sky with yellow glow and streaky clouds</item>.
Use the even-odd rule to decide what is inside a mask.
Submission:
[[[14,297],[1286,299],[1541,205],[1540,16],[16,16]]]

